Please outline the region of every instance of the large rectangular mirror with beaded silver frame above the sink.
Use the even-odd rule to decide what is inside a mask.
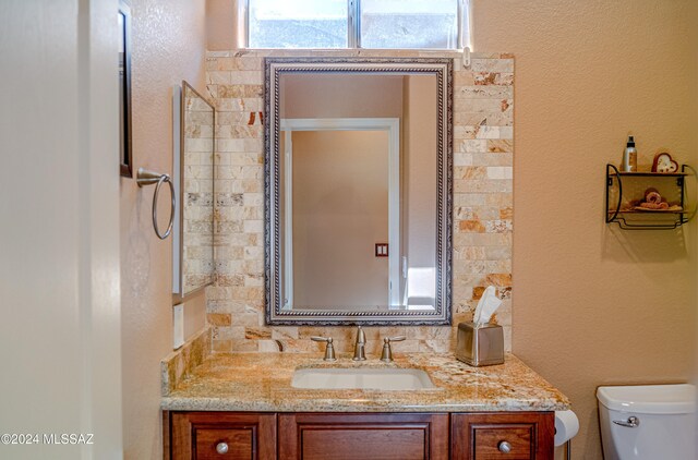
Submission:
[[[267,320],[447,324],[444,73],[315,65],[267,63]]]

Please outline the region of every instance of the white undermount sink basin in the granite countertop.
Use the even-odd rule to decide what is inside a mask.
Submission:
[[[417,368],[324,367],[296,370],[293,388],[419,390],[436,388],[424,371]]]

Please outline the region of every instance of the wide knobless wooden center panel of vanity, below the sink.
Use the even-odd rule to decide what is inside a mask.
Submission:
[[[446,460],[448,414],[279,414],[280,460]]]

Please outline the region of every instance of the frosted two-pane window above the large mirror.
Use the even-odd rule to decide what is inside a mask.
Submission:
[[[241,1],[241,3],[245,3]],[[469,0],[246,0],[250,48],[461,48]]]

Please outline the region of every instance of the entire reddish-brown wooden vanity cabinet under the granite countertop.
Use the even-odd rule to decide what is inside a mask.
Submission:
[[[163,425],[166,460],[553,460],[555,435],[554,412],[164,412]]]

